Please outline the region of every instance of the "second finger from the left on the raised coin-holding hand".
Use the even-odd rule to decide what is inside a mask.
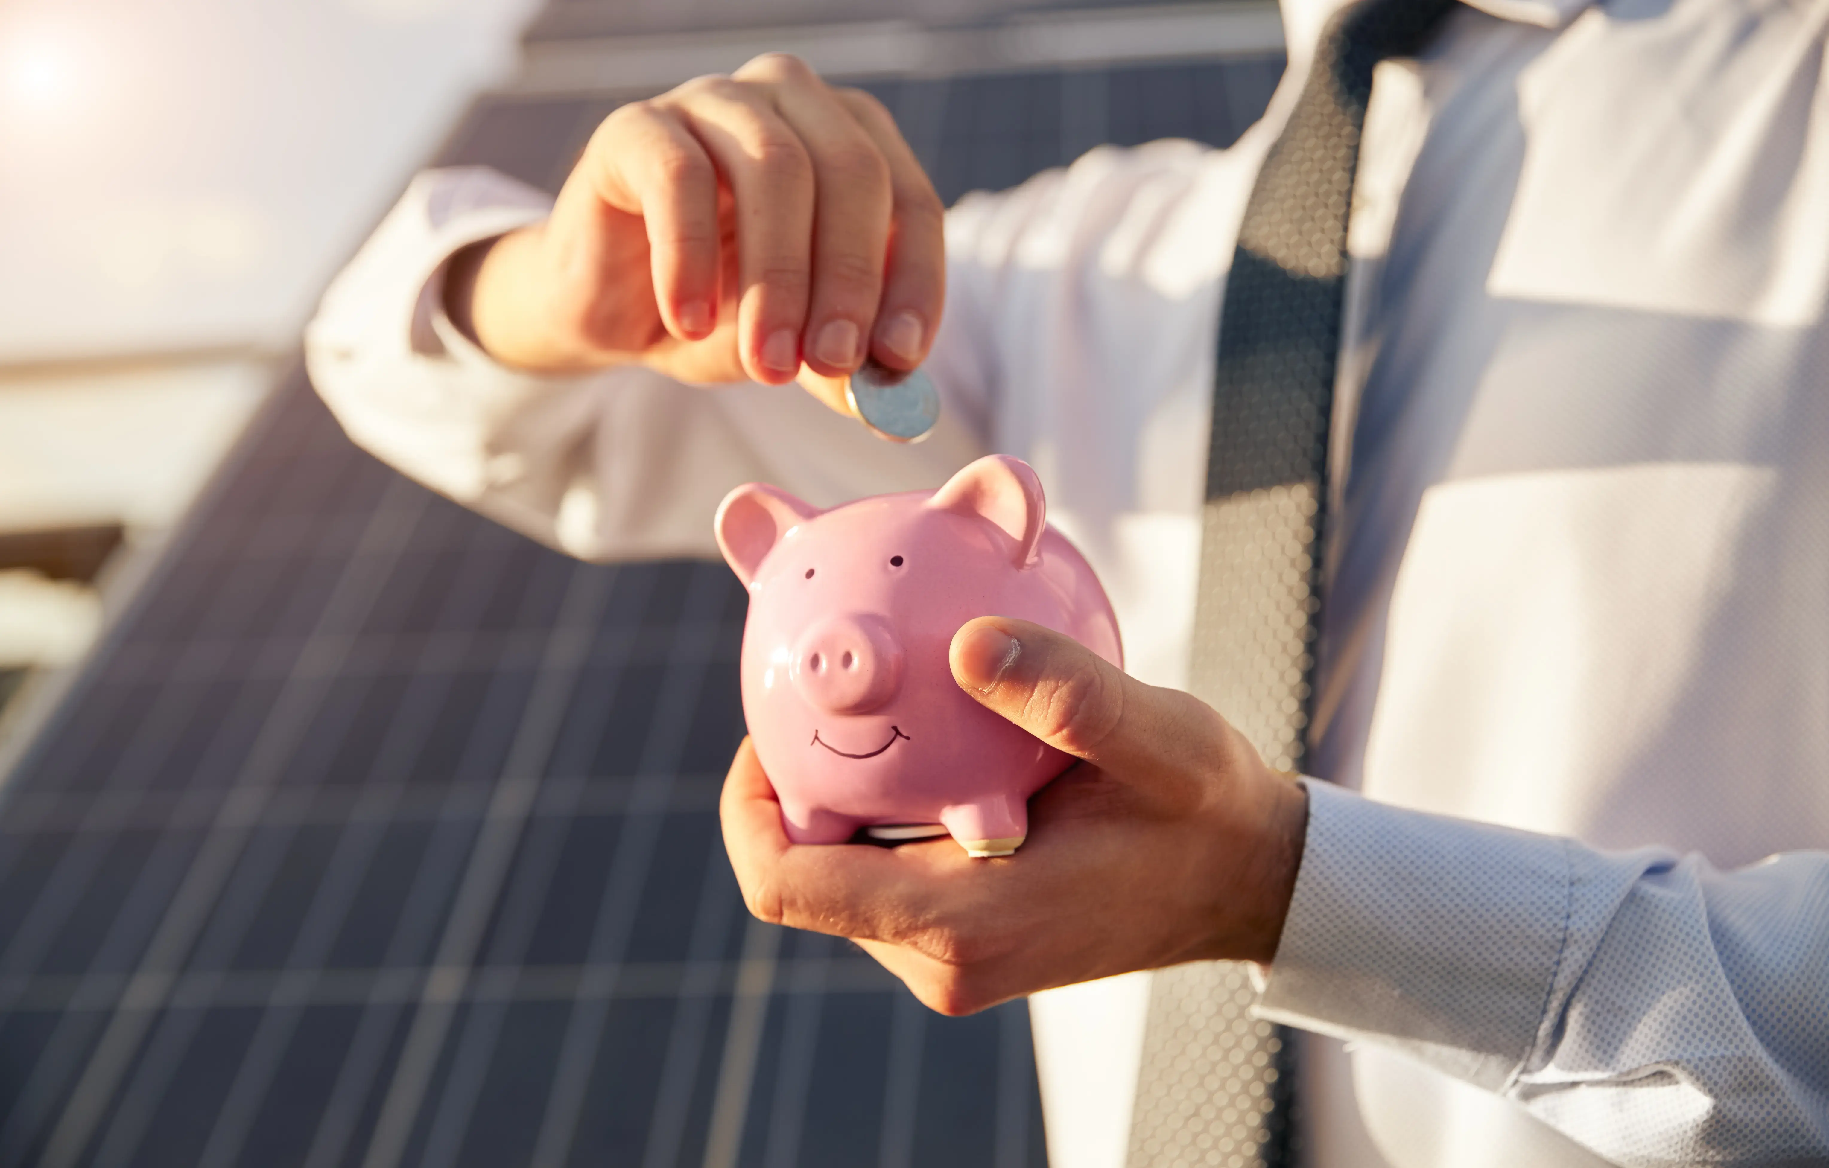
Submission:
[[[752,88],[704,77],[675,90],[686,124],[735,196],[737,355],[770,386],[801,364],[814,172],[799,135]]]

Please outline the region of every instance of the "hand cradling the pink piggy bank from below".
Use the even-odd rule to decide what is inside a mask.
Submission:
[[[721,813],[755,916],[854,938],[944,1014],[1132,969],[1275,956],[1302,788],[1196,698],[1039,625],[975,620],[951,664],[973,698],[1081,759],[1030,799],[1022,848],[790,844],[744,740]]]

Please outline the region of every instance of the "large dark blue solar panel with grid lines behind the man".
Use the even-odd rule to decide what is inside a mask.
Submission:
[[[1229,143],[1278,68],[872,90],[953,197]],[[551,188],[613,104],[483,99],[443,159]],[[294,373],[5,788],[0,1166],[1044,1164],[1022,1003],[743,910],[743,612],[408,483]]]

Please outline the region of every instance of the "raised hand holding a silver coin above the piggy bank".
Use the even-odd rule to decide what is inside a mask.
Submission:
[[[459,252],[446,302],[525,369],[836,378],[867,356],[920,364],[942,249],[940,201],[883,106],[770,53],[604,119],[552,216]]]

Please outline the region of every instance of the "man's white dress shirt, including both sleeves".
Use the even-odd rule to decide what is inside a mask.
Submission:
[[[953,208],[933,442],[794,388],[496,367],[441,263],[547,201],[487,170],[413,183],[313,378],[380,457],[589,557],[713,554],[746,479],[830,504],[1017,453],[1130,671],[1180,685],[1225,271],[1328,7],[1286,2],[1233,148]],[[1311,753],[1372,799],[1310,784],[1262,1009],[1355,1042],[1392,1164],[1829,1163],[1825,42],[1822,0],[1478,0],[1377,69]],[[1061,1168],[1123,1163],[1145,991],[1035,1000]],[[1370,1163],[1319,1110],[1317,1159]]]

